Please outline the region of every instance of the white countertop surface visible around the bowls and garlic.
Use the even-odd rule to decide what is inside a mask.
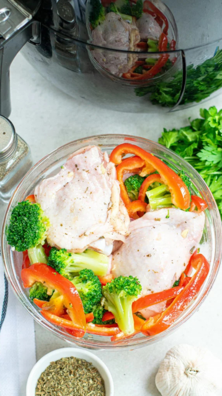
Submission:
[[[163,127],[188,125],[197,118],[198,105],[169,114],[127,114],[93,107],[83,99],[76,101],[44,80],[22,57],[11,66],[10,120],[30,145],[34,162],[55,148],[80,137],[101,133],[129,133],[157,141]],[[204,107],[222,108],[222,96]],[[0,204],[0,222],[6,206]],[[107,364],[114,379],[115,396],[158,396],[155,374],[166,351],[179,343],[207,347],[222,359],[222,312],[220,301],[222,271],[206,301],[183,326],[159,343],[121,352],[93,351]],[[35,325],[37,359],[67,343]],[[22,395],[23,396],[23,395]]]

